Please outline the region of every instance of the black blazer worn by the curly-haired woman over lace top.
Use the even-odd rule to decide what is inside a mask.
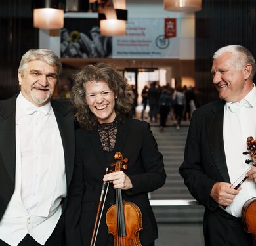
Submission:
[[[75,136],[74,176],[66,211],[66,235],[70,246],[90,245],[102,188],[102,178],[106,167],[110,164],[102,149],[97,130],[78,129]],[[163,186],[166,178],[163,157],[158,151],[149,124],[136,119],[127,119],[125,123],[119,123],[112,163],[116,163],[114,160],[116,152],[121,152],[123,158],[128,158],[128,169],[124,172],[131,179],[133,188],[122,190],[122,195],[125,201],[131,201],[139,206],[142,212],[143,226],[139,237],[142,245],[148,245],[158,237],[158,231],[147,192],[152,192]],[[106,245],[109,236],[105,216],[107,209],[114,203],[115,192],[110,184],[96,245]],[[83,244],[81,244],[81,237]]]

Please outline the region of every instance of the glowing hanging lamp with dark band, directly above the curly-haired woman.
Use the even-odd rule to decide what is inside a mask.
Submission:
[[[113,0],[112,3],[112,7],[105,7],[98,14],[100,35],[126,35],[127,10],[125,0]]]

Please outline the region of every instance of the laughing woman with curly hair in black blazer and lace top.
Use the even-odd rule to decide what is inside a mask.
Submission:
[[[77,154],[66,213],[68,246],[90,245],[103,182],[109,186],[102,218],[116,201],[116,189],[121,190],[123,199],[135,203],[142,213],[141,245],[154,245],[158,232],[148,192],[165,183],[163,156],[150,125],[131,119],[133,100],[127,94],[126,79],[110,64],[85,66],[74,77],[71,99],[81,129],[76,131]],[[128,169],[106,174],[119,151],[129,160]],[[116,239],[108,231],[104,220],[96,245],[114,245]]]

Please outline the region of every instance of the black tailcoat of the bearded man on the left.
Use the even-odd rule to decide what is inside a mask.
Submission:
[[[15,110],[16,96],[0,101],[0,219],[12,197],[15,187],[16,139]],[[51,101],[64,147],[67,187],[72,178],[75,156],[74,119],[68,105]],[[66,201],[64,201],[66,207]]]

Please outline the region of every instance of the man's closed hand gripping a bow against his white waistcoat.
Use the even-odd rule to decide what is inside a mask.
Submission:
[[[229,183],[217,182],[211,189],[211,198],[219,205],[228,206],[241,190],[241,187],[238,190],[235,190],[234,187]]]

